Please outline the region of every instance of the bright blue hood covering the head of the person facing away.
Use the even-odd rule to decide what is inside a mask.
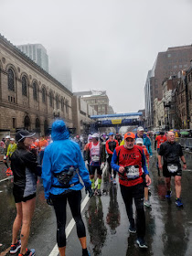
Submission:
[[[53,141],[69,139],[69,131],[63,120],[57,120],[52,124],[51,138]]]

